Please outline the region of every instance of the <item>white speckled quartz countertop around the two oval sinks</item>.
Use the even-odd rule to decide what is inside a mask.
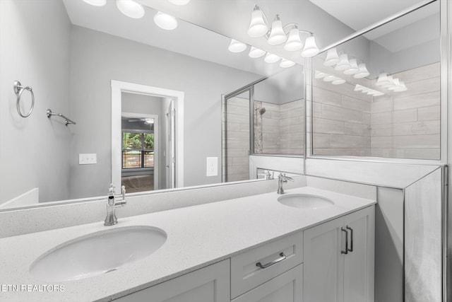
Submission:
[[[335,205],[317,210],[287,207],[274,192],[126,218],[119,209],[115,226],[99,221],[1,238],[0,301],[111,301],[376,203],[314,187],[286,190],[286,194],[293,193],[320,195]],[[152,255],[95,277],[46,282],[29,273],[32,262],[57,245],[123,226],[161,228],[167,241]],[[59,284],[64,291],[7,291],[7,286],[22,284]]]

